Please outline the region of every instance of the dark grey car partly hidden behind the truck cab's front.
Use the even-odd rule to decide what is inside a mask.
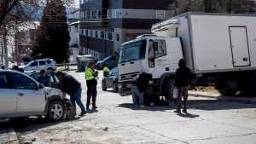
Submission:
[[[106,91],[108,88],[113,88],[113,92],[119,91],[119,69],[113,68],[108,77],[102,79],[102,90]]]

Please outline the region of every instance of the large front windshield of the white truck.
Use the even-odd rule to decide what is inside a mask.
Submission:
[[[119,63],[145,59],[146,40],[125,44],[120,50]]]

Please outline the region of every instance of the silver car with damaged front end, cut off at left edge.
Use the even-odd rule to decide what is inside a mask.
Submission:
[[[21,72],[0,70],[0,118],[46,116],[58,121],[65,112],[61,90],[44,87]]]

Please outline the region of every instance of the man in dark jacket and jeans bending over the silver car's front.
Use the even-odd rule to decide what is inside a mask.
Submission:
[[[84,104],[81,101],[82,88],[79,81],[63,72],[57,72],[57,76],[61,81],[61,90],[70,95],[70,101],[74,107],[76,107],[76,103],[79,105],[81,109],[81,114],[79,114],[79,116],[84,116],[86,111]]]

